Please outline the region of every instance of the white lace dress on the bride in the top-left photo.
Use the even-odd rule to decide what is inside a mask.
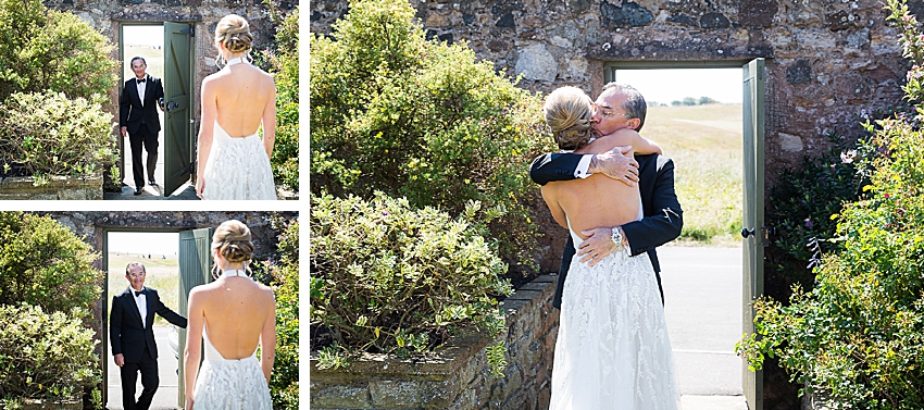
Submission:
[[[276,199],[273,170],[260,137],[232,137],[217,121],[203,176],[203,199]]]

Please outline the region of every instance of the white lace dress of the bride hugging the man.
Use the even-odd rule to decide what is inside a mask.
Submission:
[[[569,228],[575,249],[583,239]],[[679,395],[648,253],[571,263],[552,368],[552,410],[674,410]]]

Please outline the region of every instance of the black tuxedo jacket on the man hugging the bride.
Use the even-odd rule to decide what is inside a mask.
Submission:
[[[582,157],[582,154],[566,152],[539,156],[533,161],[529,176],[539,185],[546,185],[552,181],[574,179],[574,171]],[[658,288],[661,290],[661,265],[654,248],[676,239],[684,227],[684,212],[674,192],[674,162],[657,153],[635,156],[635,160],[638,162],[638,190],[641,195],[641,209],[645,216],[640,221],[623,225],[623,232],[628,239],[629,252],[633,257],[648,252],[658,278]],[[552,299],[552,306],[555,308],[561,308],[561,294],[574,253],[574,241],[569,235],[567,245],[562,253],[561,268],[559,268],[555,296]],[[661,290],[661,300],[664,300],[663,290]]]

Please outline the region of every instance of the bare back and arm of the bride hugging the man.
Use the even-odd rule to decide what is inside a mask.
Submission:
[[[613,147],[632,146],[633,154],[660,152],[660,148],[632,129],[620,129],[597,138],[574,153],[602,153]],[[550,182],[542,186],[542,198],[559,225],[571,228],[582,238],[582,231],[601,226],[620,226],[638,219],[638,186],[627,186],[602,174],[587,178]],[[565,220],[567,215],[567,220]]]

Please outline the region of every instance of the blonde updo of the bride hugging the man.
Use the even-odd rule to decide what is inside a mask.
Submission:
[[[590,97],[580,88],[561,87],[549,94],[542,113],[559,149],[575,150],[590,140]]]

